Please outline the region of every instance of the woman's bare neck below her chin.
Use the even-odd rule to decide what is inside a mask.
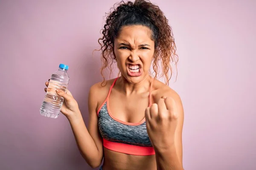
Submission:
[[[133,93],[144,93],[149,91],[151,85],[151,76],[145,76],[140,82],[132,83],[121,75],[121,79],[118,81],[119,87],[123,93],[130,95]]]

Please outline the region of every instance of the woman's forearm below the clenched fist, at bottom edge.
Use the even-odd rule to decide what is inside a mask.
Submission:
[[[157,170],[183,170],[175,145],[165,149],[155,149]]]

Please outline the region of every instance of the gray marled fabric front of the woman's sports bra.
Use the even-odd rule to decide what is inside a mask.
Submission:
[[[112,119],[108,114],[107,102],[99,111],[99,131],[108,141],[151,147],[146,122],[141,125],[125,125]]]

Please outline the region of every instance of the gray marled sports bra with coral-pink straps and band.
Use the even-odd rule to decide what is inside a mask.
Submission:
[[[109,96],[116,83],[114,80],[109,89],[108,96],[97,111],[99,132],[103,139],[103,146],[109,150],[130,155],[148,156],[155,151],[148,137],[145,117],[138,123],[123,122],[116,119],[109,110]],[[149,107],[151,102],[151,90],[154,78],[151,79],[149,90]]]

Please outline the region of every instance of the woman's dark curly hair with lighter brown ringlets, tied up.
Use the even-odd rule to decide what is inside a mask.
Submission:
[[[118,5],[116,8],[115,6]],[[103,82],[103,70],[110,69],[110,74],[113,70],[113,62],[116,62],[116,57],[113,53],[114,39],[118,36],[120,29],[123,26],[141,25],[148,27],[151,32],[151,39],[154,40],[155,53],[153,58],[154,78],[157,78],[159,73],[159,61],[161,62],[162,74],[165,76],[165,83],[169,85],[169,80],[172,77],[171,62],[177,64],[178,56],[176,54],[176,45],[172,33],[172,28],[168,24],[168,20],[160,10],[159,6],[152,4],[148,0],[135,0],[116,3],[111,8],[110,13],[106,17],[103,36],[98,42],[101,46],[99,51],[102,51],[102,68],[101,74]],[[177,65],[176,65],[177,69]],[[169,76],[169,72],[171,75]],[[102,83],[103,83],[102,82]]]

